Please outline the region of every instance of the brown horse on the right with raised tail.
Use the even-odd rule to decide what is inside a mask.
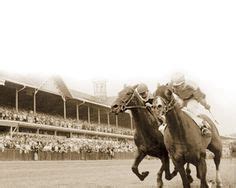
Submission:
[[[204,120],[211,126],[211,137],[201,135],[199,127],[186,113],[181,110],[177,99],[168,85],[159,86],[155,96],[160,101],[157,105],[164,108],[167,127],[164,130],[164,143],[180,173],[184,188],[190,187],[190,182],[184,170],[185,163],[196,166],[197,177],[201,180],[201,188],[209,187],[206,181],[206,149],[214,153],[216,166],[216,186],[222,187],[219,165],[222,155],[222,143],[215,124],[207,116]]]

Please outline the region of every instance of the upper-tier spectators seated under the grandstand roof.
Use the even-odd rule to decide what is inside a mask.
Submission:
[[[14,108],[3,106],[0,106],[0,119],[114,134],[134,134],[134,130],[128,128],[115,127],[112,125],[108,126],[106,124],[88,123],[87,121],[78,121],[72,118],[67,118],[65,120],[62,116],[59,115],[56,116],[39,112],[37,114],[34,114],[33,111],[26,111],[22,109],[17,112]]]

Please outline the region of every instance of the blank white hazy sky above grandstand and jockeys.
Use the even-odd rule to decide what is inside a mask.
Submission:
[[[236,132],[235,1],[1,1],[0,69],[59,74],[93,94],[181,71],[207,94],[224,133]]]

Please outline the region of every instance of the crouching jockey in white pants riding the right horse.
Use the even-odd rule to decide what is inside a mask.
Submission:
[[[210,105],[206,102],[206,95],[200,90],[200,88],[194,83],[185,80],[185,77],[181,73],[176,73],[171,77],[171,88],[173,92],[183,100],[183,106],[187,107],[187,110],[196,116],[205,113],[210,114]],[[210,136],[211,132],[207,128],[209,125],[206,121],[200,123],[200,129],[202,135]]]

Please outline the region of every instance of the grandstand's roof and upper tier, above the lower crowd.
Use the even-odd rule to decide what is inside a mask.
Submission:
[[[0,83],[0,125],[8,127],[11,134],[24,127],[36,133],[42,130],[51,130],[54,135],[69,133],[71,137],[79,133],[93,134],[89,128],[79,130],[89,125],[96,131],[103,130],[101,136],[132,135],[129,113],[110,113],[109,99],[101,103],[96,97],[71,90],[58,76],[36,78],[0,73]]]

